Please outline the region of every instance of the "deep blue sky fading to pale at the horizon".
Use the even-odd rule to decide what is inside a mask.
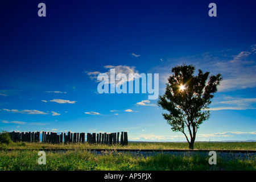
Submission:
[[[38,16],[40,2],[46,17]],[[208,15],[211,2],[217,17]],[[129,131],[130,140],[185,140],[171,131],[157,100],[142,102],[148,94],[98,94],[92,73],[108,72],[106,65],[159,73],[162,95],[170,69],[186,63],[224,76],[197,140],[256,139],[255,5],[1,1],[0,129]]]

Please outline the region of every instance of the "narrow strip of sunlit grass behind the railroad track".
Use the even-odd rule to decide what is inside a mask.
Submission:
[[[0,149],[61,149],[61,148],[73,148],[73,149],[87,149],[87,148],[130,148],[130,149],[188,149],[188,143],[129,143],[128,146],[105,144],[88,144],[88,143],[74,143],[74,144],[48,144],[48,143],[27,143],[27,142],[13,142],[9,145],[0,144]],[[196,142],[194,149],[201,150],[256,150],[256,142],[226,142],[226,143],[214,143],[214,142]]]

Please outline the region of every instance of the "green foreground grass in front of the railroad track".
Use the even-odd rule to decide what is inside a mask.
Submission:
[[[208,158],[201,155],[174,156],[156,154],[143,157],[129,152],[110,152],[96,155],[76,150],[67,152],[47,152],[46,165],[38,164],[38,151],[0,151],[0,171],[73,171],[73,170],[255,170],[255,160],[223,160],[217,158],[216,165],[210,165]]]

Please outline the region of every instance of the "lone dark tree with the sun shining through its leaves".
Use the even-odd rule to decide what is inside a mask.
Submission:
[[[221,74],[209,77],[209,72],[203,73],[199,69],[198,75],[194,76],[194,71],[193,65],[183,64],[172,68],[174,74],[168,78],[166,92],[158,101],[159,106],[170,112],[163,114],[164,119],[172,126],[172,131],[185,135],[190,149],[194,147],[199,125],[210,117],[207,109],[222,80]],[[185,128],[188,132],[185,132]]]

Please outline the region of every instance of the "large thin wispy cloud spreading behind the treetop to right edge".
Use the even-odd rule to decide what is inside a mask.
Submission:
[[[174,67],[174,65],[180,65],[182,63],[193,64],[196,66],[196,69],[202,69],[204,72],[209,71],[213,75],[217,73],[222,74],[224,80],[222,80],[221,84],[218,86],[218,92],[255,88],[255,45],[256,44],[237,53],[229,50],[227,55],[220,51],[167,59],[167,61],[164,61],[164,65],[160,64],[156,66],[154,72],[158,72],[160,81],[166,83],[168,76],[172,74],[170,69]],[[166,85],[163,86],[166,88]]]

